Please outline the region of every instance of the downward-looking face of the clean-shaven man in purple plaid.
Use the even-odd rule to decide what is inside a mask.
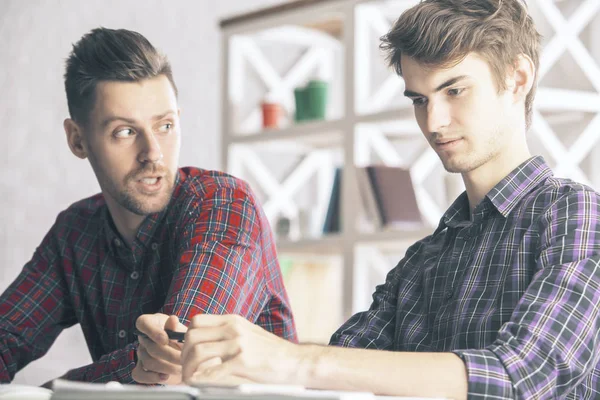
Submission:
[[[405,95],[447,171],[468,173],[511,151],[512,97],[498,93],[484,59],[471,53],[447,69],[427,68],[410,57],[401,62]]]

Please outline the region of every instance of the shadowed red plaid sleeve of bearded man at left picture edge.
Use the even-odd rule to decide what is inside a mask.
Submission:
[[[0,297],[0,382],[12,381],[48,351],[64,328],[77,322],[57,268],[55,227]]]

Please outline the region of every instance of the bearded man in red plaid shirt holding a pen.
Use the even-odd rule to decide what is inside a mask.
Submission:
[[[94,382],[181,382],[181,345],[165,328],[184,331],[200,313],[243,315],[295,340],[271,230],[250,187],[177,167],[167,59],[139,33],[94,29],[74,45],[65,87],[68,144],[89,159],[102,193],[59,214],[0,297],[0,382],[76,323],[94,362],[64,378]]]

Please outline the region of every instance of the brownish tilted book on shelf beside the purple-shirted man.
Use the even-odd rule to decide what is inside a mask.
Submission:
[[[386,165],[357,168],[359,192],[376,229],[423,226],[410,170]]]

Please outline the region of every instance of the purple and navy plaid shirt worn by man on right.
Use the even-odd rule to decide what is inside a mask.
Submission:
[[[599,261],[600,195],[535,157],[472,218],[459,196],[331,344],[454,352],[470,399],[600,398]]]

